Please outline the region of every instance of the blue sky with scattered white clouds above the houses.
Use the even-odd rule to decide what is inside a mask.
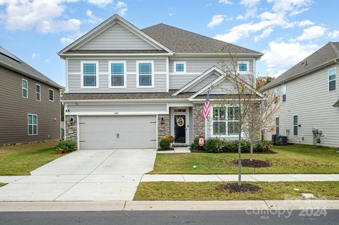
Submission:
[[[0,45],[64,85],[57,52],[114,13],[138,28],[166,23],[261,51],[258,75],[279,75],[338,41],[333,0],[0,0]]]

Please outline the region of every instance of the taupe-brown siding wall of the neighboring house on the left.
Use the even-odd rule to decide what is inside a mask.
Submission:
[[[0,66],[0,145],[60,139],[59,90]],[[22,79],[28,80],[28,98],[22,97]],[[35,85],[40,85],[41,102]],[[54,102],[48,99],[54,90]],[[28,114],[37,114],[37,135],[28,135]],[[54,121],[55,118],[55,121]]]

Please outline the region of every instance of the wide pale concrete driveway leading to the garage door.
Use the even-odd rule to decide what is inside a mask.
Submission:
[[[133,200],[156,150],[78,150],[0,188],[0,201]]]

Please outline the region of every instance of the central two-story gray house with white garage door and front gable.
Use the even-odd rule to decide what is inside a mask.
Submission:
[[[227,44],[162,23],[139,30],[112,16],[59,52],[66,63],[65,138],[80,149],[155,148],[164,135],[174,136],[174,145],[200,135],[236,138],[237,107],[213,105],[234,87],[220,65]],[[233,44],[230,51],[244,78],[255,73],[263,54]]]

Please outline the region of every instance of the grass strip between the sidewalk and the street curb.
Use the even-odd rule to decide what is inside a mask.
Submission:
[[[247,182],[260,186],[259,193],[230,193],[218,190],[226,182],[142,182],[133,200],[292,200],[312,193],[315,199],[339,199],[339,181],[326,182]],[[299,188],[299,190],[294,190]]]

